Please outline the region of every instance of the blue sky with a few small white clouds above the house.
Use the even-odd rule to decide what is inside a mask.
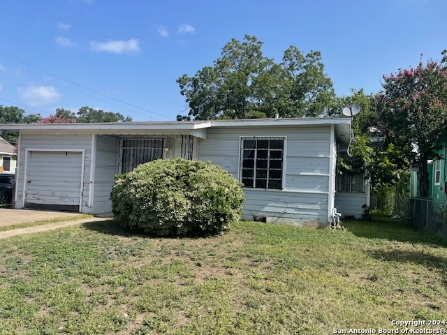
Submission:
[[[43,117],[175,120],[188,112],[175,80],[245,34],[278,62],[290,45],[320,51],[339,96],[447,49],[445,0],[14,0],[0,13],[0,105]]]

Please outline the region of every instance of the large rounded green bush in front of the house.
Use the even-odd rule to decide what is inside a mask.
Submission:
[[[210,162],[156,160],[117,175],[110,196],[115,220],[156,236],[218,234],[239,220],[241,184]]]

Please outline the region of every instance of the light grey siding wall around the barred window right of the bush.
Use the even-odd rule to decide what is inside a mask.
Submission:
[[[286,136],[283,190],[244,188],[244,218],[327,225],[330,191],[330,126],[296,128],[210,128],[200,142],[200,161],[212,161],[239,178],[240,137]]]

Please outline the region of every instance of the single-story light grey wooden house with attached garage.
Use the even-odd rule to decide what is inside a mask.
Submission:
[[[326,226],[335,204],[360,194],[336,194],[337,152],[349,144],[350,118],[1,128],[20,131],[15,208],[107,213],[115,174],[175,157],[211,161],[240,180],[246,220]]]

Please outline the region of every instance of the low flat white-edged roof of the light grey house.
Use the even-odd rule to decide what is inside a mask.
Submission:
[[[351,118],[239,119],[212,121],[145,121],[108,122],[97,124],[0,124],[0,129],[21,133],[91,133],[101,135],[194,135],[206,138],[206,129],[213,127],[301,127],[335,125],[338,140],[346,142],[351,132]]]

